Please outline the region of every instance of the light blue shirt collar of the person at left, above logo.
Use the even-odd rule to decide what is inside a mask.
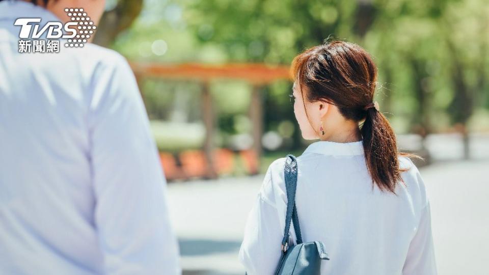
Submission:
[[[13,26],[15,19],[19,17],[39,17],[42,18],[41,23],[47,21],[61,22],[60,18],[58,18],[55,14],[30,2],[18,0],[7,0],[0,2],[0,20],[11,19]],[[20,26],[18,28],[20,28]]]

